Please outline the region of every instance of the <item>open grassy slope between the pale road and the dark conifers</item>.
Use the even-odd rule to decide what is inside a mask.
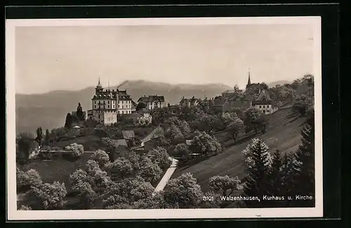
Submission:
[[[282,153],[296,151],[300,144],[300,128],[305,119],[292,114],[291,109],[279,110],[269,116],[269,119],[270,125],[267,128],[267,133],[258,134],[256,137],[264,140],[270,147],[271,152],[276,149],[279,149]],[[243,178],[246,173],[244,172],[241,151],[245,149],[249,142],[251,140],[228,147],[223,154],[213,156],[194,166],[179,168],[173,174],[173,177],[178,177],[183,173],[192,173],[204,191],[208,187],[208,178],[214,175],[237,175],[239,178]]]

